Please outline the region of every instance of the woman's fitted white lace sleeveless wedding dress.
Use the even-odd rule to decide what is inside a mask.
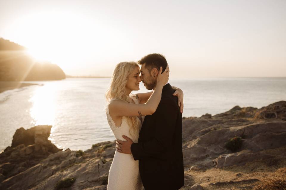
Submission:
[[[139,103],[135,97],[129,97],[132,98],[136,104]],[[113,100],[115,100],[115,98],[111,99],[108,102],[108,105]],[[122,135],[125,135],[132,139],[134,143],[138,143],[138,137],[134,134],[130,134],[129,132],[130,127],[125,116],[122,116],[121,125],[115,126],[114,121],[109,115],[108,105],[106,106],[107,121],[116,140],[126,141],[122,137]],[[142,117],[142,121],[140,121],[139,118],[138,120],[141,129],[144,116]],[[107,190],[142,190],[143,185],[138,164],[138,160],[135,161],[132,154],[124,154],[115,150],[114,158],[109,169]]]

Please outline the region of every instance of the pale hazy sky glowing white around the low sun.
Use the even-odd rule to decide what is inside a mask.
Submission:
[[[285,0],[0,0],[0,37],[67,75],[163,54],[170,79],[286,77]]]

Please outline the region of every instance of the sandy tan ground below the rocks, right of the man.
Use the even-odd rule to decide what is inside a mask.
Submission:
[[[279,154],[285,148],[273,149]],[[270,152],[269,152],[270,153]],[[188,170],[185,172],[185,186],[181,190],[191,189],[199,183],[204,190],[253,189],[268,179],[286,180],[286,160],[257,159],[244,166],[211,168],[206,171]],[[217,184],[215,184],[217,183]]]

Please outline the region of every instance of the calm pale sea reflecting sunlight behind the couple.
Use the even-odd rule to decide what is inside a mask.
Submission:
[[[87,150],[114,140],[105,115],[104,93],[110,78],[33,81],[0,93],[0,151],[11,145],[16,129],[52,125],[49,140],[58,148]],[[196,78],[170,80],[184,91],[183,116],[212,115],[235,105],[263,107],[286,100],[286,78]],[[142,83],[140,91],[147,92]]]

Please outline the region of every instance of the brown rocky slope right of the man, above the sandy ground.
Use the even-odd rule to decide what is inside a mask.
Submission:
[[[273,159],[279,155],[268,155],[265,150],[286,146],[285,101],[260,109],[235,106],[225,113],[206,115],[183,122],[184,165],[189,168],[205,170],[242,165],[258,158]],[[232,137],[243,141],[235,153],[225,147]]]

